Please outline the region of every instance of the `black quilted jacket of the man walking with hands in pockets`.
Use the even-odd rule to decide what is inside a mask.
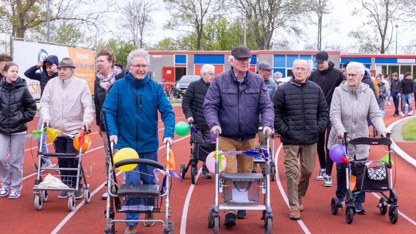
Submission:
[[[300,84],[294,77],[273,96],[275,131],[283,145],[310,145],[327,126],[329,111],[322,89],[312,81]]]

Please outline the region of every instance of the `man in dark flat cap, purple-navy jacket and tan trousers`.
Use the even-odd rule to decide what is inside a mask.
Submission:
[[[264,79],[249,70],[251,52],[238,46],[231,50],[231,69],[215,76],[208,88],[203,108],[205,119],[215,134],[220,133],[219,149],[223,152],[251,150],[262,116],[263,133],[272,133],[274,111]],[[224,172],[250,173],[253,157],[245,154],[226,157]],[[237,165],[237,166],[235,166]],[[221,195],[224,200],[224,195]],[[245,210],[224,210],[224,225],[235,226],[235,219],[245,219]]]

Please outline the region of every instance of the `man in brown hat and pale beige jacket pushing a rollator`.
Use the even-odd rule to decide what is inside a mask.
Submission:
[[[42,123],[57,129],[67,135],[75,135],[85,125],[91,126],[94,117],[92,95],[87,81],[74,76],[74,62],[70,58],[63,58],[59,62],[58,76],[50,79],[40,99],[40,114]],[[55,153],[78,153],[73,146],[73,138],[58,136],[54,141]],[[78,162],[74,158],[58,158],[60,168],[77,168]],[[61,180],[69,188],[77,187],[77,171],[61,169]],[[65,198],[68,191],[62,191],[58,197]],[[75,199],[83,197],[82,184],[74,192]]]

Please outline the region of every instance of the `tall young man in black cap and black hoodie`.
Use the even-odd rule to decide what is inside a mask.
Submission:
[[[344,81],[344,75],[342,74],[342,71],[334,68],[335,64],[329,61],[327,52],[319,51],[316,54],[316,59],[314,62],[317,63],[318,69],[311,72],[309,80],[313,81],[319,85],[319,87],[321,87],[322,91],[324,92],[328,108],[331,108],[332,94],[334,93],[334,89],[339,86],[342,81]],[[329,157],[329,150],[325,149],[326,145],[328,144],[328,137],[331,128],[332,125],[328,118],[326,128],[327,136],[325,137],[325,131],[319,134],[317,143],[319,165],[321,166],[321,170],[319,170],[319,174],[316,179],[325,180],[324,185],[326,187],[332,187],[331,172],[332,166],[334,165],[334,162]]]

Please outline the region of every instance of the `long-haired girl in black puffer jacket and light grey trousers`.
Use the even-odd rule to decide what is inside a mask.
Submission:
[[[20,197],[27,122],[36,113],[36,102],[27,89],[26,80],[18,77],[17,64],[9,62],[1,71],[0,81],[0,197]],[[10,166],[8,151],[10,145]]]

